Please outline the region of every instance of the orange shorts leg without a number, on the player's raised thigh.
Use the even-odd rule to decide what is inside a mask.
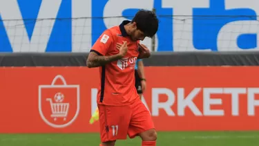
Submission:
[[[141,100],[137,100],[132,106],[133,114],[128,127],[128,136],[134,138],[138,134],[149,129],[155,129],[151,113]]]

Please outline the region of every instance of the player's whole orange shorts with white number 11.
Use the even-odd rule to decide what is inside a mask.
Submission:
[[[154,129],[151,113],[141,100],[126,106],[98,104],[102,142],[134,138],[148,129]]]

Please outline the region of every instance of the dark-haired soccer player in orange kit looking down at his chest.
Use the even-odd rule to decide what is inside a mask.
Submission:
[[[108,28],[97,39],[88,55],[87,66],[99,67],[97,93],[102,146],[116,140],[140,136],[142,146],[155,146],[157,134],[148,109],[135,89],[135,62],[150,57],[140,44],[157,33],[158,19],[150,10],[140,10],[132,21]]]

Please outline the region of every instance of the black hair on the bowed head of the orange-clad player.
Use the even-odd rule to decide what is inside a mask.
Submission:
[[[157,33],[158,19],[151,10],[139,10],[131,22],[135,22],[137,29],[141,30],[146,37],[153,37]]]

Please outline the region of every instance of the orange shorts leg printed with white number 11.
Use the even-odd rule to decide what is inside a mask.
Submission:
[[[126,139],[131,111],[127,106],[98,105],[99,128],[102,142]]]

